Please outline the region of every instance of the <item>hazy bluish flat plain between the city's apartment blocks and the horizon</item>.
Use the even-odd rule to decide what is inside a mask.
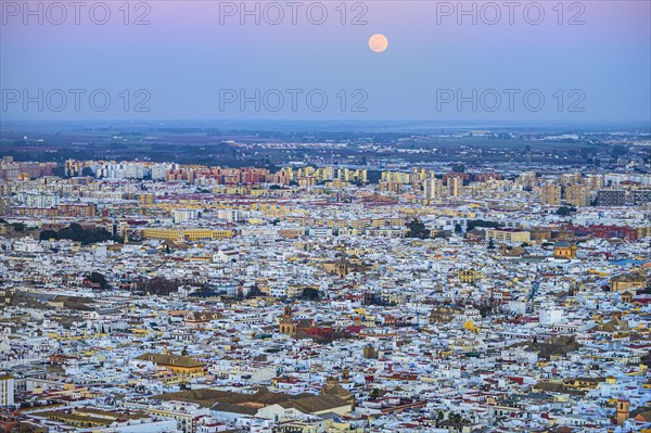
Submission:
[[[612,144],[609,142],[613,139],[603,132],[591,133],[589,139],[542,140],[546,135],[539,129],[529,132],[521,129],[499,131],[494,132],[495,137],[445,137],[445,133],[447,132],[416,135],[396,131],[219,130],[152,125],[95,128],[72,125],[58,130],[14,127],[3,129],[0,135],[0,156],[13,156],[16,161],[59,162],[69,158],[148,160],[269,169],[276,169],[290,161],[316,165],[395,166],[396,162],[399,164],[403,161],[411,166],[426,163],[482,166],[525,163],[524,151],[528,147],[532,163],[580,167],[587,163],[588,157],[610,161]],[[561,130],[553,133],[570,132]],[[234,145],[229,141],[244,145]],[[288,149],[273,145],[278,143],[288,143],[284,147]],[[292,147],[292,143],[301,145]],[[311,147],[311,143],[318,145]],[[333,145],[329,148],[324,143]],[[369,149],[370,143],[373,144],[373,150]],[[419,153],[419,149],[426,152]]]

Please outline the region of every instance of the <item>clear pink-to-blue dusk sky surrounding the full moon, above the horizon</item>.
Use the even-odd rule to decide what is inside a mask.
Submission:
[[[39,3],[29,2],[34,10]],[[259,8],[259,25],[254,16],[242,16],[241,2],[217,1],[130,2],[128,25],[124,2],[106,1],[111,11],[106,24],[94,24],[86,7],[76,25],[73,8],[65,8],[64,20],[60,10],[48,12],[49,3],[42,3],[39,24],[22,1],[2,1],[1,115],[36,120],[512,123],[649,123],[651,117],[651,2],[647,0],[565,1],[562,17],[557,1],[520,2],[513,24],[501,1],[492,3],[496,8],[464,2],[464,10],[476,8],[476,25],[472,16],[460,16],[456,1],[349,1],[344,3],[345,25],[340,1],[311,7],[312,22],[323,9],[328,12],[322,25],[308,20],[307,8],[315,2],[302,3],[296,25],[283,1],[267,7],[265,16],[268,3],[246,3]],[[277,20],[278,10],[284,18],[273,25],[269,21]],[[133,25],[143,14],[150,24]],[[359,14],[366,24],[353,25]],[[94,18],[101,21],[103,10],[95,9]],[[540,24],[534,25],[537,20]],[[55,25],[56,21],[62,23]],[[386,36],[386,51],[369,49],[368,39],[374,34]],[[42,111],[37,102],[25,106],[25,94],[38,99],[39,89]],[[69,89],[85,90],[79,112],[72,95],[65,103],[60,101],[59,90],[48,100],[53,89],[68,95]],[[89,104],[88,94],[98,89],[111,97],[106,111]],[[138,93],[139,89],[144,92]],[[296,94],[295,111],[288,89],[295,89],[291,90]],[[514,92],[512,111],[505,89]],[[242,91],[255,100],[256,90],[257,102],[242,106]],[[310,91],[311,109],[306,101]],[[278,93],[285,95],[283,102]],[[460,106],[459,94],[469,99]],[[531,97],[528,107],[524,94]],[[544,103],[537,101],[539,95]],[[136,111],[139,103],[149,111]]]

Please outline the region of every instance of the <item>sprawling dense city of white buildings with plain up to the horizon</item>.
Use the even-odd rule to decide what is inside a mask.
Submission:
[[[648,132],[142,128],[5,132],[5,431],[651,425]]]

